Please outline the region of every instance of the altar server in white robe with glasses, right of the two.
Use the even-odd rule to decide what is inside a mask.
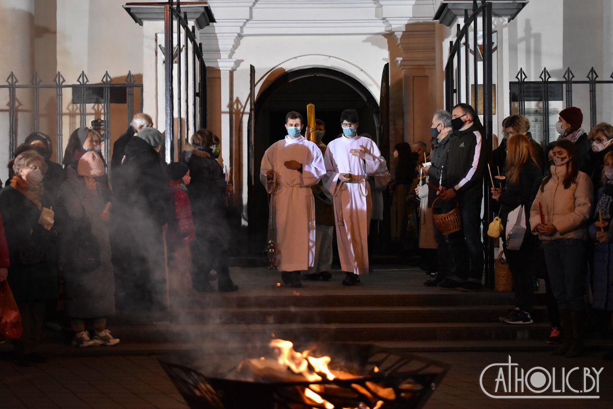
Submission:
[[[341,114],[343,135],[326,150],[324,187],[333,196],[337,227],[338,257],[345,271],[344,285],[360,283],[368,272],[368,227],[372,202],[367,176],[387,171],[385,159],[375,142],[357,134],[356,110]]]

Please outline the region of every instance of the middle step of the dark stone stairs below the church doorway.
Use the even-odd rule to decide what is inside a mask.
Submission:
[[[227,307],[191,309],[151,319],[150,315],[119,313],[109,325],[125,326],[151,321],[185,324],[317,324],[317,323],[449,323],[497,322],[511,306],[459,307]],[[536,321],[545,321],[545,307],[533,311]]]

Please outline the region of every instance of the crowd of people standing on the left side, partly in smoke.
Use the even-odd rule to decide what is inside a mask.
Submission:
[[[166,165],[162,134],[139,113],[113,145],[110,173],[102,142],[94,129],[75,129],[62,166],[48,135],[35,132],[9,163],[0,282],[21,315],[21,365],[44,361],[36,350],[44,321],[69,328],[75,347],[110,346],[120,342],[106,325],[116,308],[165,310],[171,295],[215,291],[215,273],[219,291],[238,290],[227,265],[232,186],[218,138],[199,130],[185,160]]]

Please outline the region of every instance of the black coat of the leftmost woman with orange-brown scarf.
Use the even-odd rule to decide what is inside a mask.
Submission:
[[[47,192],[40,200],[45,208],[53,205]],[[0,213],[10,254],[8,281],[18,303],[58,298],[56,233],[38,223],[40,212],[14,187],[7,186],[0,192]],[[33,263],[32,255],[39,262]]]

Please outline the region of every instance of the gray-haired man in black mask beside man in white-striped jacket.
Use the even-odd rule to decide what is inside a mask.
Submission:
[[[432,137],[432,154],[430,155],[430,166],[424,167],[422,172],[429,176],[428,180],[433,187],[439,187],[443,178],[444,165],[447,162],[447,154],[449,153],[449,141],[455,138],[455,133],[452,132],[451,114],[444,110],[439,110],[432,117],[430,125],[430,137]],[[431,187],[428,189],[428,206],[432,207],[433,201],[436,199],[437,190]],[[441,202],[441,200],[439,200]],[[438,205],[438,202],[436,203]],[[443,204],[444,206],[444,204]],[[438,206],[437,206],[438,207]],[[439,208],[439,212],[446,210]],[[432,209],[433,212],[438,209]],[[454,233],[457,234],[457,233]],[[434,287],[438,285],[449,273],[449,269],[459,267],[455,262],[454,254],[449,246],[449,236],[443,236],[434,225],[434,238],[438,244],[436,255],[438,258],[438,273],[432,279],[427,280],[424,285]]]

